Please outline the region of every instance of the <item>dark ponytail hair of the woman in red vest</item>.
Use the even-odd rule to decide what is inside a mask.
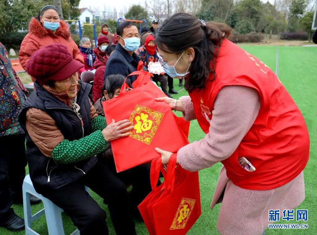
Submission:
[[[183,53],[192,47],[195,58],[185,89],[192,92],[203,89],[210,73],[215,78],[215,58],[222,40],[228,38],[231,28],[224,23],[204,22],[188,13],[177,13],[167,18],[155,36],[156,45],[166,53]]]

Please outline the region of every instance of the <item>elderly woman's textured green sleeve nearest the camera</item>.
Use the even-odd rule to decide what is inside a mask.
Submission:
[[[53,149],[52,158],[61,164],[80,162],[104,152],[106,145],[107,141],[98,130],[78,140],[64,139]]]

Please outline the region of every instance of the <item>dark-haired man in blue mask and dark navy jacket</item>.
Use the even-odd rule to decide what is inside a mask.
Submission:
[[[104,79],[108,75],[121,74],[124,77],[137,70],[140,58],[134,53],[140,46],[138,28],[132,22],[124,22],[117,28],[118,44],[109,57]],[[130,76],[128,80],[133,83],[136,76]]]

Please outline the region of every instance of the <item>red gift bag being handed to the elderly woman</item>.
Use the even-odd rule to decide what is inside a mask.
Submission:
[[[136,71],[131,75],[143,72]],[[112,119],[128,119],[134,126],[129,136],[111,141],[117,172],[160,157],[155,147],[177,152],[188,144],[188,139],[178,126],[170,106],[155,100],[161,95],[162,93],[158,94],[147,85],[127,92],[124,83],[119,96],[103,102],[107,124],[110,124]]]

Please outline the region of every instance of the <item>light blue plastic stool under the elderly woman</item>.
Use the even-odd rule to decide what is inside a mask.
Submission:
[[[86,187],[86,186],[85,186]],[[56,206],[52,201],[38,194],[32,184],[30,175],[25,176],[23,181],[23,209],[24,209],[24,221],[25,221],[25,234],[26,235],[40,235],[32,229],[32,223],[41,217],[44,213],[46,216],[47,228],[49,235],[64,235],[63,221],[61,219],[62,209]],[[89,193],[89,188],[86,187],[86,191]],[[44,204],[44,208],[34,215],[31,214],[30,194],[41,199]],[[90,194],[90,193],[89,193]],[[76,229],[71,235],[79,235],[79,230]]]

